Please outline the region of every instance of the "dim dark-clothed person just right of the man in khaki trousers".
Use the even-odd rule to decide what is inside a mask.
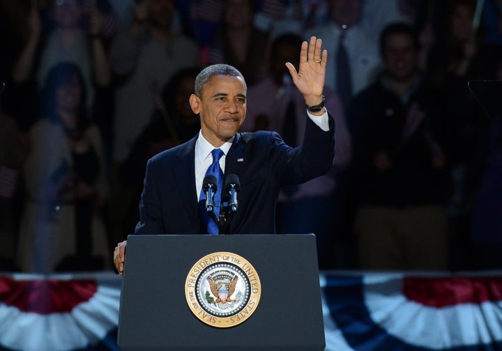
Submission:
[[[450,261],[452,268],[469,267],[471,256],[470,228],[479,155],[485,139],[486,117],[469,90],[470,80],[493,79],[494,52],[480,40],[474,18],[474,0],[452,0],[446,7],[447,20],[443,36],[434,38],[427,56],[425,73],[441,92],[441,103],[448,126],[444,151],[448,155],[453,191],[448,203],[452,226]]]

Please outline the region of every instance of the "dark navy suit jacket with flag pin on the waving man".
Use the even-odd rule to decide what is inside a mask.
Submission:
[[[231,234],[275,233],[280,187],[327,173],[335,156],[335,122],[324,132],[306,118],[303,146],[287,146],[276,132],[237,133],[225,160],[225,174],[241,181]],[[155,155],[146,166],[135,234],[198,234],[195,141]]]

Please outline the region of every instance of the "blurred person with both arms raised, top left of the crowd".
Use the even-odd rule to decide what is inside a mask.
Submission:
[[[97,3],[92,3],[90,12],[85,10],[85,4],[85,0],[51,0],[41,10],[32,1],[26,16],[29,36],[12,70],[12,81],[20,89],[20,104],[26,95],[40,96],[48,72],[54,65],[69,61],[78,65],[84,77],[86,107],[96,108],[95,97],[104,95],[112,82],[112,72],[102,34],[105,16]],[[106,104],[109,99],[100,102]],[[20,106],[24,111],[20,118],[27,119],[24,124],[28,128],[40,114],[26,108]]]

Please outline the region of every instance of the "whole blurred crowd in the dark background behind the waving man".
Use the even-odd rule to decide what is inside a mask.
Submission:
[[[0,270],[112,269],[206,65],[243,73],[241,132],[301,145],[284,63],[310,36],[337,155],[277,232],[315,233],[322,270],[500,269],[501,0],[1,0]]]

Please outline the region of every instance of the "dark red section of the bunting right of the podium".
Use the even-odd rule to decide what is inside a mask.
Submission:
[[[436,308],[496,302],[502,300],[502,277],[405,277],[403,294],[409,300]]]

